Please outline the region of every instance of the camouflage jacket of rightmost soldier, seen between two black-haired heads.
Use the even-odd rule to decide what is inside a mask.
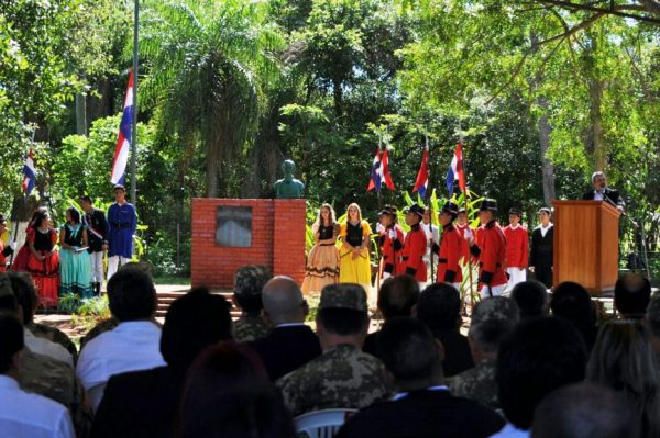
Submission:
[[[474,400],[493,409],[499,409],[497,382],[495,381],[495,360],[485,360],[468,371],[449,379],[452,395]]]

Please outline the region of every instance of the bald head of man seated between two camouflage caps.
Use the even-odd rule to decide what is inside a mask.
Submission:
[[[294,279],[274,277],[264,285],[262,294],[264,312],[273,325],[305,322],[307,303]]]

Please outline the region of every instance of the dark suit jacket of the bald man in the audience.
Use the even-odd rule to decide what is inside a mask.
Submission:
[[[319,338],[306,325],[275,327],[249,345],[262,358],[273,382],[321,356]]]

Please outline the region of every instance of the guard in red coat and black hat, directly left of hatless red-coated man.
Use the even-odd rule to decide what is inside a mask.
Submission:
[[[476,232],[476,239],[469,235],[470,251],[479,257],[479,289],[482,299],[502,295],[506,287],[504,263],[506,258],[506,238],[502,227],[495,220],[497,201],[485,199],[479,209],[482,226]]]

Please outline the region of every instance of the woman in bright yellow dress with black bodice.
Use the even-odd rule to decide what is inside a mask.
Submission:
[[[340,283],[361,284],[367,294],[371,293],[371,261],[369,256],[371,226],[362,220],[360,205],[349,205],[345,222],[341,223],[339,235],[341,247],[339,257]]]

